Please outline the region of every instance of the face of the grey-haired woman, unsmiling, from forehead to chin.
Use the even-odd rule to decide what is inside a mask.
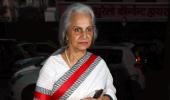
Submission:
[[[91,45],[94,33],[91,16],[81,12],[73,13],[67,32],[69,48],[86,50]]]

